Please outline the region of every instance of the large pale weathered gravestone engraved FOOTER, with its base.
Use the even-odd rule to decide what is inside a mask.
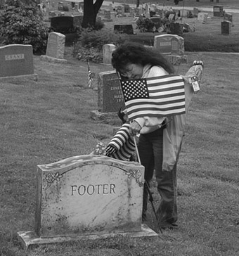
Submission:
[[[141,224],[144,167],[103,155],[79,155],[37,166],[34,231],[22,247],[115,235],[157,236]]]

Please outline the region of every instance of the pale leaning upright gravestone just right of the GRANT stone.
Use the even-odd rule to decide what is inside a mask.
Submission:
[[[41,56],[41,60],[53,63],[67,63],[64,59],[65,35],[57,32],[51,32],[46,46],[46,55]]]

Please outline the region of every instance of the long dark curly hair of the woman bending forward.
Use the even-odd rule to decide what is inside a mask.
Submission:
[[[124,72],[129,63],[156,65],[164,68],[169,74],[174,73],[174,66],[161,53],[150,47],[128,42],[112,52],[111,63],[117,72]]]

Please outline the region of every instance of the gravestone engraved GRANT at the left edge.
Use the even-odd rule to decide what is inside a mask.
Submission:
[[[33,77],[32,45],[9,44],[0,47],[0,79],[8,77]]]

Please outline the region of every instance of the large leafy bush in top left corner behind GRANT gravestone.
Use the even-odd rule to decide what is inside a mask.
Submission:
[[[49,28],[41,20],[37,6],[15,1],[0,18],[3,44],[31,44],[34,53],[46,51]]]

